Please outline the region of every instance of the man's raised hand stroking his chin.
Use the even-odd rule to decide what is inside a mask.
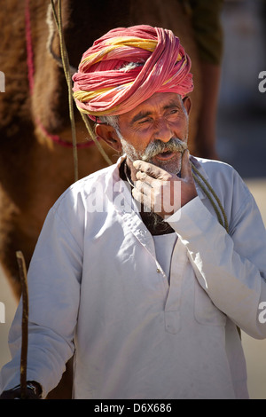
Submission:
[[[182,156],[180,178],[145,161],[134,161],[133,165],[137,169],[133,197],[162,218],[171,216],[197,196],[188,151]]]

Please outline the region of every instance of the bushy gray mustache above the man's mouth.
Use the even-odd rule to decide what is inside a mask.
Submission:
[[[162,142],[160,139],[151,142],[145,149],[142,155],[143,161],[149,161],[158,153],[162,152],[180,152],[184,153],[187,149],[187,144],[178,138],[171,138],[168,142]]]

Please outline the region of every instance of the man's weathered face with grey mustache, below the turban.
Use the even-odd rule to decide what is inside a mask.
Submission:
[[[190,100],[176,93],[155,93],[119,116],[122,150],[129,161],[142,159],[177,174],[187,147]]]

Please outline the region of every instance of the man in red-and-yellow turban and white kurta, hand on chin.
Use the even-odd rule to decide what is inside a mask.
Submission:
[[[74,354],[74,398],[248,397],[237,327],[266,336],[265,229],[234,169],[189,157],[190,68],[172,32],[147,26],[82,57],[76,104],[124,155],[43,225],[28,271],[32,396]],[[2,397],[20,397],[20,320],[21,305]]]

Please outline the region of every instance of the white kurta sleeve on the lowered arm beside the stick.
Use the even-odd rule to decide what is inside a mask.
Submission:
[[[43,397],[58,385],[66,361],[74,353],[82,276],[82,228],[81,216],[75,216],[77,204],[68,200],[66,204],[64,196],[48,214],[27,273],[27,381],[41,383]],[[20,383],[20,333],[21,301],[10,331],[12,361],[2,369],[1,392]]]

